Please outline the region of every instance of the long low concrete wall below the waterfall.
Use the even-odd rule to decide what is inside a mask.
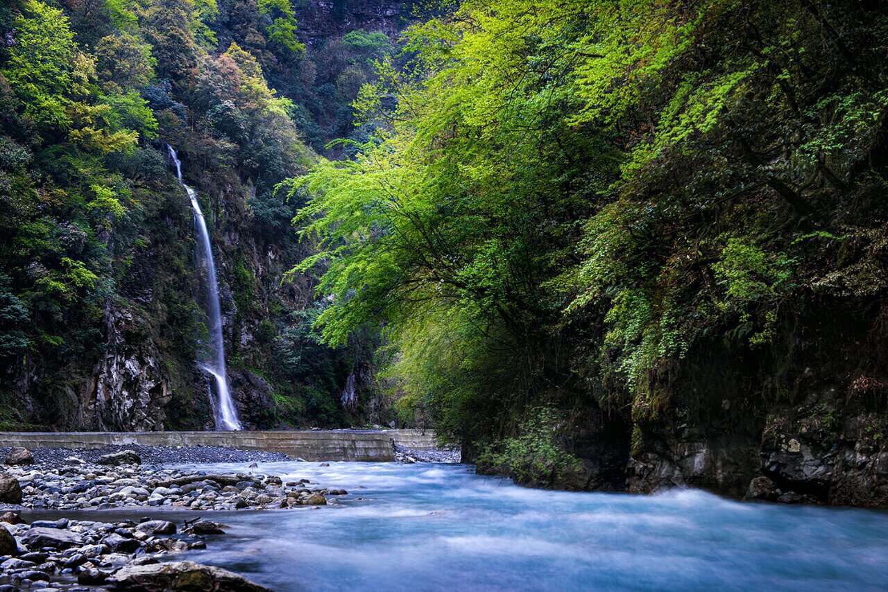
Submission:
[[[102,446],[227,446],[266,450],[306,461],[394,460],[392,442],[411,448],[434,447],[434,432],[420,430],[314,431],[76,431],[0,432],[0,446],[100,448]]]

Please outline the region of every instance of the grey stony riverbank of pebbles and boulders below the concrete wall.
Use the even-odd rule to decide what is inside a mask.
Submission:
[[[3,452],[7,466],[0,475],[0,502],[6,510],[0,516],[0,592],[95,587],[261,590],[225,570],[165,563],[170,555],[203,549],[208,538],[225,533],[224,525],[195,510],[317,509],[347,494],[305,478],[284,481],[262,472],[262,462],[287,460],[274,453],[205,446]],[[250,470],[224,474],[164,466],[170,462],[250,462]],[[105,521],[108,514],[98,511],[139,509],[189,511],[176,521]],[[67,512],[80,518],[83,512],[97,511],[95,520],[62,517],[23,524],[21,510],[63,516]],[[201,584],[195,588],[194,581]]]

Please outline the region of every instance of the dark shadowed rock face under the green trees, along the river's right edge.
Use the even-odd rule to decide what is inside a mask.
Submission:
[[[736,499],[884,508],[884,363],[861,354],[880,351],[862,327],[847,316],[808,325],[792,340],[791,361],[780,360],[782,375],[768,356],[722,359],[713,345],[687,359],[661,414],[636,430],[620,412],[575,415],[563,438],[583,470],[529,485],[630,493],[691,486]],[[675,402],[689,399],[698,404]]]

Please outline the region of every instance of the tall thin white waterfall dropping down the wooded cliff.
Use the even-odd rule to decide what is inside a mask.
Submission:
[[[197,202],[197,193],[182,180],[182,162],[178,160],[178,154],[173,147],[167,145],[170,151],[170,159],[176,164],[176,176],[179,185],[185,187],[188,198],[191,200],[191,208],[194,209],[194,226],[198,234],[198,267],[201,260],[207,265],[207,318],[210,320],[210,340],[213,349],[213,360],[200,362],[199,366],[204,372],[209,373],[216,381],[218,401],[213,406],[213,419],[217,430],[240,430],[241,422],[237,421],[237,412],[231,400],[231,391],[228,390],[228,376],[225,369],[225,343],[222,341],[222,313],[219,308],[219,288],[216,280],[216,263],[213,260],[213,249],[210,247],[210,233],[207,232],[207,223],[203,219],[201,204]]]

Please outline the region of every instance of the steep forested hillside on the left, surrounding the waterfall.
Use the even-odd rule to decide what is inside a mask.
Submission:
[[[313,163],[306,140],[353,127],[360,83],[337,80],[371,78],[407,22],[406,3],[361,6],[0,9],[0,427],[212,427],[194,221],[167,143],[210,225],[245,425],[390,421],[374,334],[313,335],[315,280],[284,276],[312,248],[289,224],[300,201],[274,191]],[[346,386],[361,397],[344,406]]]

